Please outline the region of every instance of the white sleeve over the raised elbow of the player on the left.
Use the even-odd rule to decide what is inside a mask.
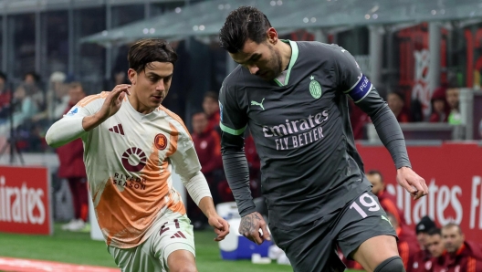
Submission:
[[[47,131],[47,144],[51,147],[59,147],[81,137],[86,132],[82,126],[83,119],[84,116],[73,116],[56,121]]]

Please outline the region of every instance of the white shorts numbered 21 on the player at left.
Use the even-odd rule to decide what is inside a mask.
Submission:
[[[191,220],[185,214],[168,213],[162,216],[161,221],[161,227],[139,246],[108,246],[110,255],[122,272],[169,271],[167,257],[176,250],[187,250],[195,256]]]

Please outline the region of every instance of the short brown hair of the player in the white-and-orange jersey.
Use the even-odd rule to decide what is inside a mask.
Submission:
[[[173,47],[162,38],[144,38],[137,41],[129,49],[127,54],[129,68],[141,72],[146,66],[154,61],[170,62],[174,65],[177,54]]]

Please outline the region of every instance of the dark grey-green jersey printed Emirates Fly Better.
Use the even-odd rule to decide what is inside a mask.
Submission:
[[[348,97],[358,103],[376,93],[342,47],[289,44],[284,82],[266,81],[239,66],[219,96],[223,133],[241,137],[247,127],[254,137],[269,220],[281,227],[317,220],[370,190],[355,149]]]

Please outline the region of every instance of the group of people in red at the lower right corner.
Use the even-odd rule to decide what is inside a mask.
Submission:
[[[403,211],[396,206],[393,194],[385,190],[382,174],[366,173],[382,208],[398,235],[398,252],[407,272],[478,272],[482,271],[482,245],[466,240],[459,225],[438,226],[429,216],[421,218],[414,228],[406,225]],[[349,268],[361,265],[340,254]]]

